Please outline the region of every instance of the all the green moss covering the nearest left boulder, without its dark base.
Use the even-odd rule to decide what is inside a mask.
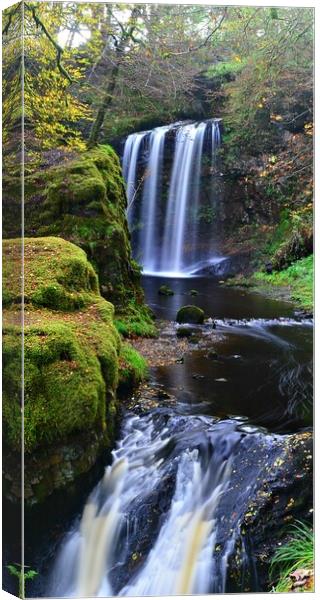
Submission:
[[[18,450],[21,326],[15,258],[20,241],[7,240],[4,248],[11,294],[4,319],[4,439]],[[59,238],[25,239],[25,291],[25,451],[82,431],[110,436],[121,342],[113,306],[100,296],[85,253]]]

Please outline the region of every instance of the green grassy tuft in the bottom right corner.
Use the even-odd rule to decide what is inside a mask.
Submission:
[[[290,574],[298,569],[313,569],[314,535],[310,525],[297,521],[289,530],[290,539],[277,548],[271,563],[271,577],[277,580],[273,591],[291,589]]]

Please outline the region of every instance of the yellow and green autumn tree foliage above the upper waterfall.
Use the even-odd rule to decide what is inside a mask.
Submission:
[[[9,82],[21,81],[13,48],[18,21],[8,9],[7,116]],[[255,128],[273,137],[272,123],[290,120],[292,110],[296,119],[308,94],[311,119],[312,37],[311,9],[26,2],[27,150],[79,149],[101,134],[110,139],[190,115],[203,76],[214,82],[206,100],[215,111],[215,94],[225,96],[234,145],[259,147],[265,140]]]

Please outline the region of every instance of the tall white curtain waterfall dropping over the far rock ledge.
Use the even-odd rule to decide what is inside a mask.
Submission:
[[[171,168],[166,152],[166,134],[170,129],[175,134]],[[154,129],[148,135],[142,194],[140,198],[136,194],[133,201],[141,141],[149,133],[130,135],[124,149],[123,174],[130,206],[129,223],[132,223],[132,214],[139,221],[133,243],[134,253],[146,273],[168,276],[191,274],[199,265],[219,260],[213,253],[209,227],[205,233],[206,247],[199,249],[199,222],[204,205],[202,169],[206,157],[208,165],[211,165],[211,175],[215,177],[220,145],[219,121],[173,124]],[[169,183],[163,177],[164,162],[165,168],[171,171]],[[217,193],[212,182],[209,199],[212,206]]]

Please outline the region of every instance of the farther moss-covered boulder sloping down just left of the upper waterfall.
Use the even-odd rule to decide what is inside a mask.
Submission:
[[[7,176],[4,188],[3,236],[14,238],[20,236],[20,179]],[[137,320],[140,313],[138,320],[152,335],[140,267],[131,255],[126,205],[119,158],[110,146],[99,146],[26,175],[25,235],[58,236],[85,250],[103,297],[121,318]]]

